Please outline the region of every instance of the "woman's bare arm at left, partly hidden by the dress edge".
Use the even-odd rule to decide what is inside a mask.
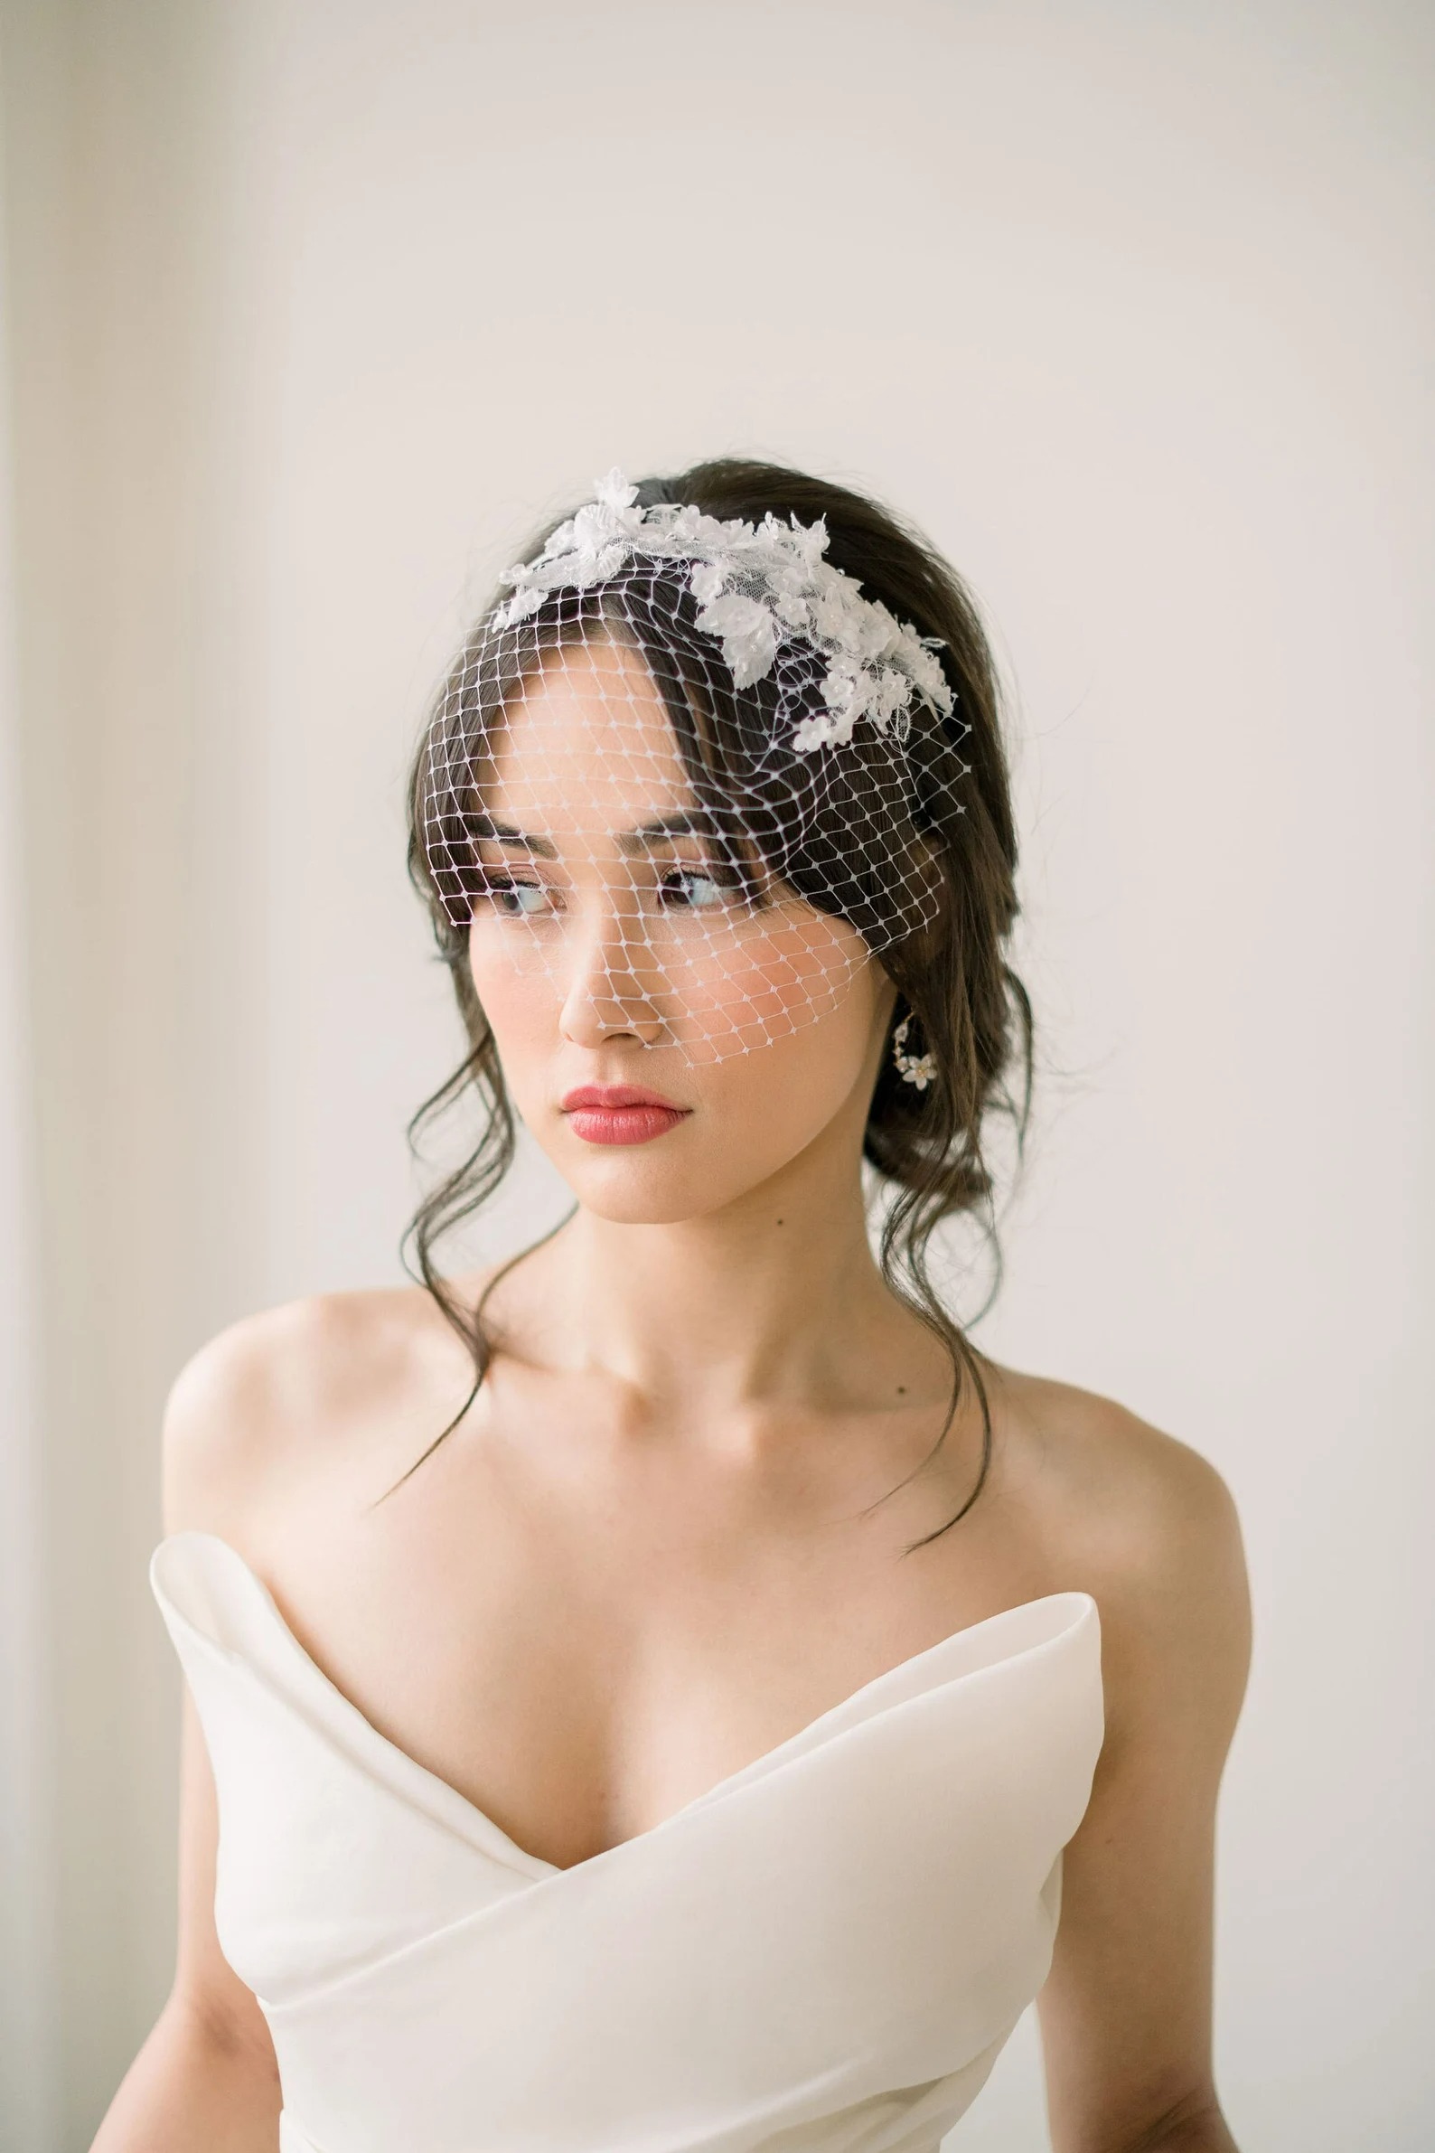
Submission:
[[[230,1337],[181,1376],[166,1415],[166,1531],[224,1529],[226,1455],[243,1369]],[[243,1412],[239,1415],[239,1425]],[[275,2153],[280,2073],[269,2026],[215,1936],[215,1783],[189,1692],[183,1705],[174,1987],[131,2063],[93,2153]]]

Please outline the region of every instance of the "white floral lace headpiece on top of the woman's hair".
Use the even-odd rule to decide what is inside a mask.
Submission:
[[[637,487],[617,469],[596,480],[596,495],[553,532],[538,560],[508,571],[514,596],[493,616],[495,627],[527,620],[551,590],[607,583],[633,560],[691,562],[697,627],[721,642],[736,687],[764,680],[787,642],[826,659],[826,708],[794,728],[792,747],[837,747],[863,717],[886,732],[912,695],[951,715],[953,691],[934,657],[940,639],[895,620],[822,558],[824,521],[794,517],[787,525],[766,515],[762,523],[723,523],[669,502],[639,508]]]

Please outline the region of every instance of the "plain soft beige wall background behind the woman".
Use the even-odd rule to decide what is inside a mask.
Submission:
[[[538,512],[725,448],[891,495],[996,624],[1048,1074],[985,1339],[1246,1518],[1241,2144],[1431,2144],[1431,45],[4,0],[6,2149],[88,2144],[170,1974],[164,1389],[396,1277],[424,691]],[[1028,2030],[960,2142],[1043,2144]]]

